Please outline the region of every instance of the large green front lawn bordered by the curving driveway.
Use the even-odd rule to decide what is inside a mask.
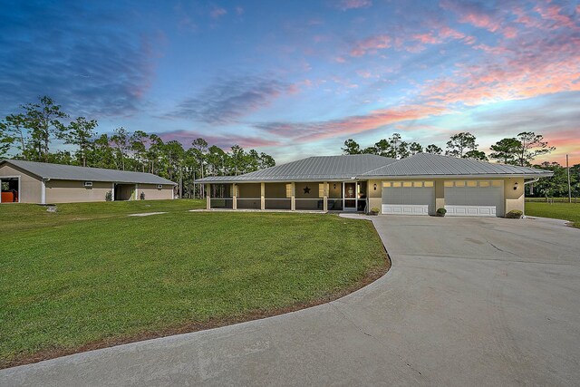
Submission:
[[[202,206],[0,206],[0,366],[308,305],[387,266],[370,222]]]

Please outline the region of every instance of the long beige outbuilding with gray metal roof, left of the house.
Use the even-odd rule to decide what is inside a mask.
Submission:
[[[173,198],[176,184],[151,173],[0,160],[0,203],[73,203]]]

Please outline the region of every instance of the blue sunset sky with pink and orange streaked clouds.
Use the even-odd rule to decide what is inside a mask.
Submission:
[[[401,133],[521,131],[580,163],[580,5],[564,1],[0,0],[0,116],[73,117],[286,162]]]

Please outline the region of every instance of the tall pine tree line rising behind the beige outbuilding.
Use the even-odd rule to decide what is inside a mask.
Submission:
[[[150,172],[179,182],[185,198],[203,196],[195,179],[275,166],[272,156],[238,145],[226,151],[199,138],[184,148],[177,140],[163,141],[157,134],[123,127],[98,135],[98,126],[85,117],[72,119],[61,105],[43,96],[0,121],[0,159],[12,155],[19,160]],[[72,150],[58,149],[62,145]]]

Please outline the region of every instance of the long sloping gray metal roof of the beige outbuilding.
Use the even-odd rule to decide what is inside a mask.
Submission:
[[[173,181],[160,178],[152,173],[131,172],[127,170],[75,167],[73,165],[49,164],[24,160],[2,160],[19,169],[32,173],[41,179],[111,181],[114,183],[167,184],[176,185]]]

